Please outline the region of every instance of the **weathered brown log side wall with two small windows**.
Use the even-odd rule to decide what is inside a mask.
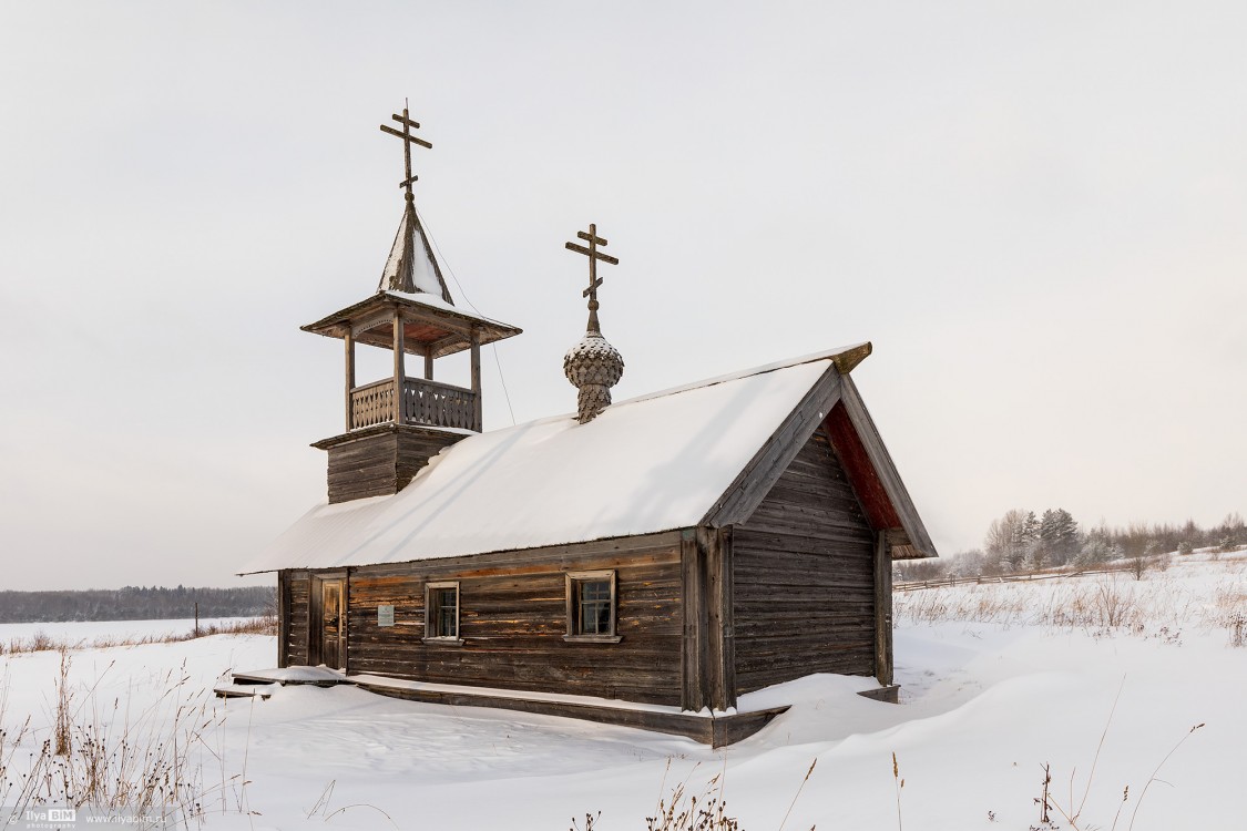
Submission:
[[[680,533],[672,532],[352,568],[349,669],[445,684],[680,704]],[[565,642],[565,572],[597,569],[617,574],[621,640]],[[463,645],[423,642],[424,584],[429,581],[459,582]],[[383,604],[394,607],[393,627],[377,625],[377,607]],[[292,614],[293,607],[292,601]],[[291,627],[292,632],[299,628],[306,633],[307,624]],[[292,643],[292,664],[299,663],[297,652]],[[306,647],[299,654],[306,662]]]

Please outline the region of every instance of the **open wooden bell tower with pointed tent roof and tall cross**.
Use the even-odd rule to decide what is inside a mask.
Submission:
[[[412,147],[433,145],[412,133],[420,125],[408,110],[392,118],[402,130],[382,131],[403,140],[403,217],[377,293],[302,326],[343,341],[344,432],[312,446],[329,455],[329,502],[385,496],[403,490],[441,449],[481,431],[480,348],[520,334],[520,329],[455,306],[441,277],[412,184]],[[393,353],[394,373],[359,384],[359,344]],[[468,386],[434,380],[438,358],[470,350]],[[421,378],[408,375],[408,358],[423,359]]]

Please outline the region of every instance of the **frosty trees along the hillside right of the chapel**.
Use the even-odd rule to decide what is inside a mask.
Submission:
[[[1016,508],[991,522],[983,548],[963,551],[949,558],[897,563],[900,579],[978,577],[1036,572],[1072,566],[1092,568],[1111,561],[1158,561],[1166,554],[1190,554],[1206,548],[1217,554],[1247,546],[1247,522],[1230,513],[1221,525],[1202,528],[1192,520],[1176,525],[1135,522],[1125,528],[1100,525],[1081,528],[1064,508],[1034,511]],[[1163,567],[1163,563],[1158,563]]]

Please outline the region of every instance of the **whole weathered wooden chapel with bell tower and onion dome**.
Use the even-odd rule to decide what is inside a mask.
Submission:
[[[567,243],[590,270],[577,412],[484,431],[480,348],[520,329],[454,304],[412,189],[431,145],[393,120],[405,204],[377,292],[303,326],[344,344],[327,501],[243,569],[277,573],[278,665],[716,745],[784,709],[741,696],[812,673],[895,700],[892,562],[936,552],[850,376],[870,344],[611,402],[596,268],[619,260],[590,226]],[[359,344],[393,375],[358,384]],[[469,384],[435,380],[461,351]]]

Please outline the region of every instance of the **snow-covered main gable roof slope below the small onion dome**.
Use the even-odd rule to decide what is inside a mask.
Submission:
[[[474,435],[393,496],[319,505],[243,573],[518,551],[702,522],[832,368],[862,344]],[[823,414],[818,414],[822,417]]]

